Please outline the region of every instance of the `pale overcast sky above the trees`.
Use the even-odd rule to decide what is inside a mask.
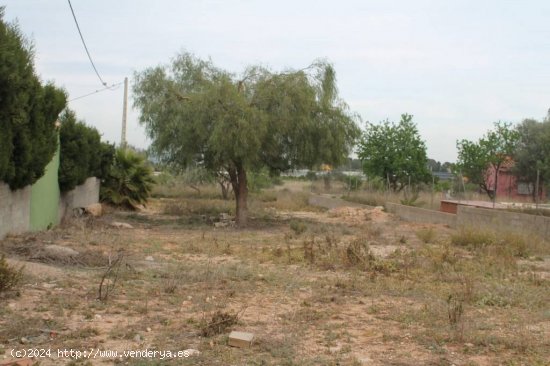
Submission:
[[[261,64],[333,63],[340,97],[366,122],[414,115],[428,156],[456,160],[456,141],[496,121],[542,119],[550,108],[547,0],[71,0],[92,59],[109,84],[130,81],[130,144],[149,141],[132,108],[135,72],[181,51],[240,73]],[[35,67],[69,99],[102,89],[66,0],[7,0],[33,41]],[[69,102],[119,142],[121,86]]]

